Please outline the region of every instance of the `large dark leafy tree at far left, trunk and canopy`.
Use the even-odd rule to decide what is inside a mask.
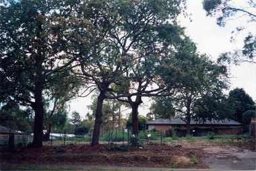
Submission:
[[[0,22],[0,99],[34,110],[34,147],[42,146],[42,97],[53,73],[74,59],[69,28],[76,1],[3,1]],[[65,17],[65,18],[64,18]],[[65,24],[60,21],[67,21]],[[60,24],[61,23],[61,24]]]

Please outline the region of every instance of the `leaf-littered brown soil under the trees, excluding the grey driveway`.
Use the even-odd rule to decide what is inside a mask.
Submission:
[[[207,157],[204,148],[224,147],[216,143],[222,140],[200,140],[177,143],[146,143],[143,149],[131,148],[129,151],[107,151],[110,145],[75,144],[64,146],[43,146],[40,148],[16,148],[1,153],[1,163],[23,164],[76,164],[95,166],[146,166],[164,168],[208,168],[203,164]],[[230,147],[230,145],[226,145]],[[232,148],[236,146],[232,145]],[[254,148],[255,145],[247,145]],[[64,151],[61,151],[63,150]],[[196,160],[195,160],[196,159]]]

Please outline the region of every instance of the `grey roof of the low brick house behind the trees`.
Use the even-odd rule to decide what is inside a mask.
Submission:
[[[186,125],[185,121],[181,120],[181,118],[171,118],[171,120],[158,118],[154,121],[149,121],[146,124],[147,125]],[[204,123],[191,119],[190,124],[191,125],[241,125],[241,123],[238,123],[232,119],[227,119],[227,118],[220,121],[215,119],[212,119],[212,121],[207,120]]]

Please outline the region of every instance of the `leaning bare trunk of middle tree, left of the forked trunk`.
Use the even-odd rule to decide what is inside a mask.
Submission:
[[[95,114],[94,133],[92,135],[92,146],[97,145],[100,139],[100,125],[102,124],[102,105],[105,93],[100,92],[98,96],[97,109]]]

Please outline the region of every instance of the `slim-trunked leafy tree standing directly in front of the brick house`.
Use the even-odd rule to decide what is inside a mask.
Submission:
[[[183,65],[181,71],[183,76],[177,92],[172,96],[172,102],[177,115],[186,122],[187,135],[190,135],[191,118],[199,118],[196,114],[199,108],[212,109],[204,113],[206,116],[201,117],[203,121],[207,118],[221,119],[224,117],[218,114],[217,108],[209,106],[213,103],[201,104],[200,102],[203,102],[206,97],[216,104],[221,102],[222,91],[228,88],[228,77],[226,67],[215,64],[206,55],[197,55],[195,51],[189,53],[187,48],[180,52],[178,57],[183,59],[179,64]]]

